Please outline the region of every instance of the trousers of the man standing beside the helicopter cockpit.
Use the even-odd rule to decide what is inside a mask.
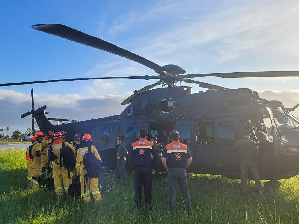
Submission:
[[[254,179],[255,186],[260,195],[263,195],[263,187],[260,182],[259,171],[257,165],[253,161],[242,161],[240,163],[241,169],[241,192],[242,194],[247,193],[247,179],[248,174],[251,174],[252,179]]]

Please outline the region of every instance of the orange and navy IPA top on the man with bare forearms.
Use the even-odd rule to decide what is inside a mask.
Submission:
[[[191,154],[187,145],[172,141],[165,146],[162,157],[167,159],[169,168],[186,168],[187,159],[191,157]]]

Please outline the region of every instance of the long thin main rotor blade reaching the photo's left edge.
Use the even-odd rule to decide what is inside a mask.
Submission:
[[[32,81],[32,82],[13,82],[13,83],[3,83],[1,86],[13,86],[13,85],[27,85],[35,83],[46,83],[46,82],[65,82],[65,81],[76,81],[76,80],[93,80],[93,79],[159,79],[159,76],[124,76],[124,77],[95,77],[95,78],[78,78],[78,79],[53,79],[53,80],[42,80],[42,81]],[[33,105],[33,95],[31,97]]]

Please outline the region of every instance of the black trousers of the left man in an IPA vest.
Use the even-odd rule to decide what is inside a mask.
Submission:
[[[135,206],[141,207],[141,191],[144,187],[145,205],[152,207],[152,168],[149,166],[136,166],[134,169]]]

